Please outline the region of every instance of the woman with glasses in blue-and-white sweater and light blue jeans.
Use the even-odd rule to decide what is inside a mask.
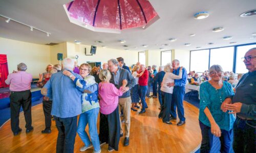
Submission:
[[[91,65],[87,63],[80,65],[79,74],[83,80],[77,79],[70,71],[67,70],[63,71],[63,74],[70,77],[74,81],[76,88],[83,92],[82,114],[80,114],[77,125],[77,133],[84,143],[84,146],[80,148],[80,151],[85,151],[93,146],[93,152],[101,152],[97,132],[97,119],[99,114],[98,84],[95,82],[94,77],[90,75],[91,70]],[[92,142],[85,130],[87,124],[89,124],[89,134]]]

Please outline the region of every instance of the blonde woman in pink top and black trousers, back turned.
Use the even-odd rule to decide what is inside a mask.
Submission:
[[[123,80],[123,85],[117,89],[114,84],[109,81],[111,74],[109,70],[102,69],[99,73],[99,100],[100,105],[100,122],[99,122],[99,140],[100,144],[108,143],[109,151],[118,151],[118,144],[120,140],[120,121],[118,111],[118,96],[121,96],[121,91],[127,84]]]

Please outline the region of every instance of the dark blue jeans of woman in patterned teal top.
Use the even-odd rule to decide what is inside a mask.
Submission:
[[[201,121],[199,121],[201,133],[202,133],[202,142],[201,142],[201,147],[200,147],[200,152],[210,152],[210,149],[212,147],[212,140],[215,137],[214,135],[211,134],[210,132],[210,127],[206,126],[203,124]],[[221,137],[220,142],[221,142],[221,148],[220,152],[226,152],[228,153],[230,150],[231,146],[231,134],[233,130],[226,131],[226,130],[221,130]]]

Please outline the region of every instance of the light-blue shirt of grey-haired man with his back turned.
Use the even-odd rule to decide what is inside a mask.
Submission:
[[[83,80],[79,74],[70,72],[76,78]],[[82,113],[82,92],[77,90],[73,81],[62,74],[62,71],[52,74],[44,88],[47,89],[47,96],[53,98],[51,115],[68,118]]]

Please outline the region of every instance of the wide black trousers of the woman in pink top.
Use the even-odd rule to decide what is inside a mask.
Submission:
[[[106,142],[118,151],[120,140],[120,120],[118,107],[111,114],[100,113],[99,121],[99,141]]]

